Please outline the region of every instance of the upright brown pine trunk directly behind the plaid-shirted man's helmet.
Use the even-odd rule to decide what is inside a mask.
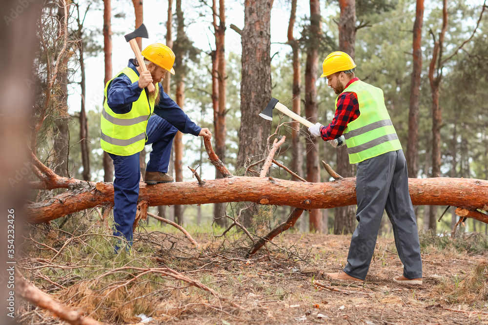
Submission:
[[[339,18],[339,50],[346,52],[353,59],[356,50],[356,2],[339,0],[341,14]],[[337,170],[343,177],[354,176],[354,165],[349,164],[349,155],[345,147],[337,149]],[[356,207],[349,206],[335,210],[334,233],[352,233],[356,228]]]

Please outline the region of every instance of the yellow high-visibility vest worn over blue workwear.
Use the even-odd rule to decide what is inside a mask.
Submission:
[[[143,90],[141,96],[132,103],[130,112],[115,114],[107,104],[107,88],[113,79],[122,74],[128,76],[132,83],[139,80],[139,76],[134,70],[125,67],[105,85],[105,101],[103,103],[101,117],[102,137],[100,143],[102,144],[102,149],[107,153],[130,156],[134,153],[141,152],[144,148],[147,139],[147,120],[154,111],[154,102],[158,93],[155,94],[156,96],[151,96],[148,99],[146,92]],[[159,87],[156,87],[155,91],[159,92]]]

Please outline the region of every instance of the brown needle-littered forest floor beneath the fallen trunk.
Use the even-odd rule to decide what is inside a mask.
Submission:
[[[331,282],[324,274],[344,266],[350,235],[285,232],[251,259],[238,253],[244,248],[244,241],[236,240],[239,236],[236,232],[225,239],[195,234],[201,246],[198,254],[180,233],[150,232],[139,241],[136,237],[136,249],[158,243],[159,249],[147,257],[154,263],[152,268],[172,268],[215,290],[222,299],[184,281],[152,281],[151,306],[137,308],[133,300],[122,311],[126,302],[117,307],[124,316],[114,321],[116,312],[110,313],[108,307],[97,314],[73,303],[75,296],[83,301],[76,292],[81,286],[74,289],[79,283],[67,290],[69,294],[51,286],[50,294],[87,313],[91,310],[92,316],[99,316],[94,318],[107,324],[488,324],[488,244],[483,235],[464,235],[454,241],[447,236],[421,236],[422,286],[393,282],[403,266],[392,238],[378,238],[366,282],[352,284]],[[314,281],[336,290],[318,287]],[[46,286],[38,284],[49,291]],[[132,288],[127,288],[123,295],[130,296]],[[96,292],[93,286],[89,291]],[[21,313],[23,324],[65,324],[33,306],[24,306]],[[151,318],[141,322],[146,316]]]

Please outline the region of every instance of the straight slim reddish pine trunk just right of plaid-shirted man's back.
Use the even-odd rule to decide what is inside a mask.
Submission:
[[[420,75],[422,73],[422,23],[424,0],[417,0],[415,23],[413,24],[413,70],[410,81],[410,105],[408,111],[407,168],[408,177],[417,177],[419,171],[419,100]]]

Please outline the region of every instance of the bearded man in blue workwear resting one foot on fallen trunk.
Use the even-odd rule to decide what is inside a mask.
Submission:
[[[141,180],[139,154],[144,145],[152,144],[144,182],[169,183],[173,182],[167,172],[175,134],[212,136],[207,128],[190,120],[159,83],[168,71],[175,74],[173,51],[154,43],[142,51],[142,56],[146,71],[142,72],[137,59],[130,59],[127,67],[107,82],[101,117],[102,149],[112,158],[115,170],[114,235],[123,237],[128,248],[133,241]],[[147,89],[150,83],[155,86],[152,93]]]

